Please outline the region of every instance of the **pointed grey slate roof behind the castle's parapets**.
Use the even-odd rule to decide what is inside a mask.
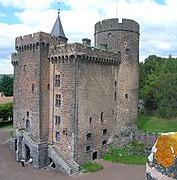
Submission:
[[[52,28],[51,34],[53,36],[56,36],[56,37],[66,38],[65,33],[63,31],[62,24],[61,24],[59,13],[58,13],[58,17],[57,17],[57,19],[55,21],[55,24],[54,24],[54,26]]]

